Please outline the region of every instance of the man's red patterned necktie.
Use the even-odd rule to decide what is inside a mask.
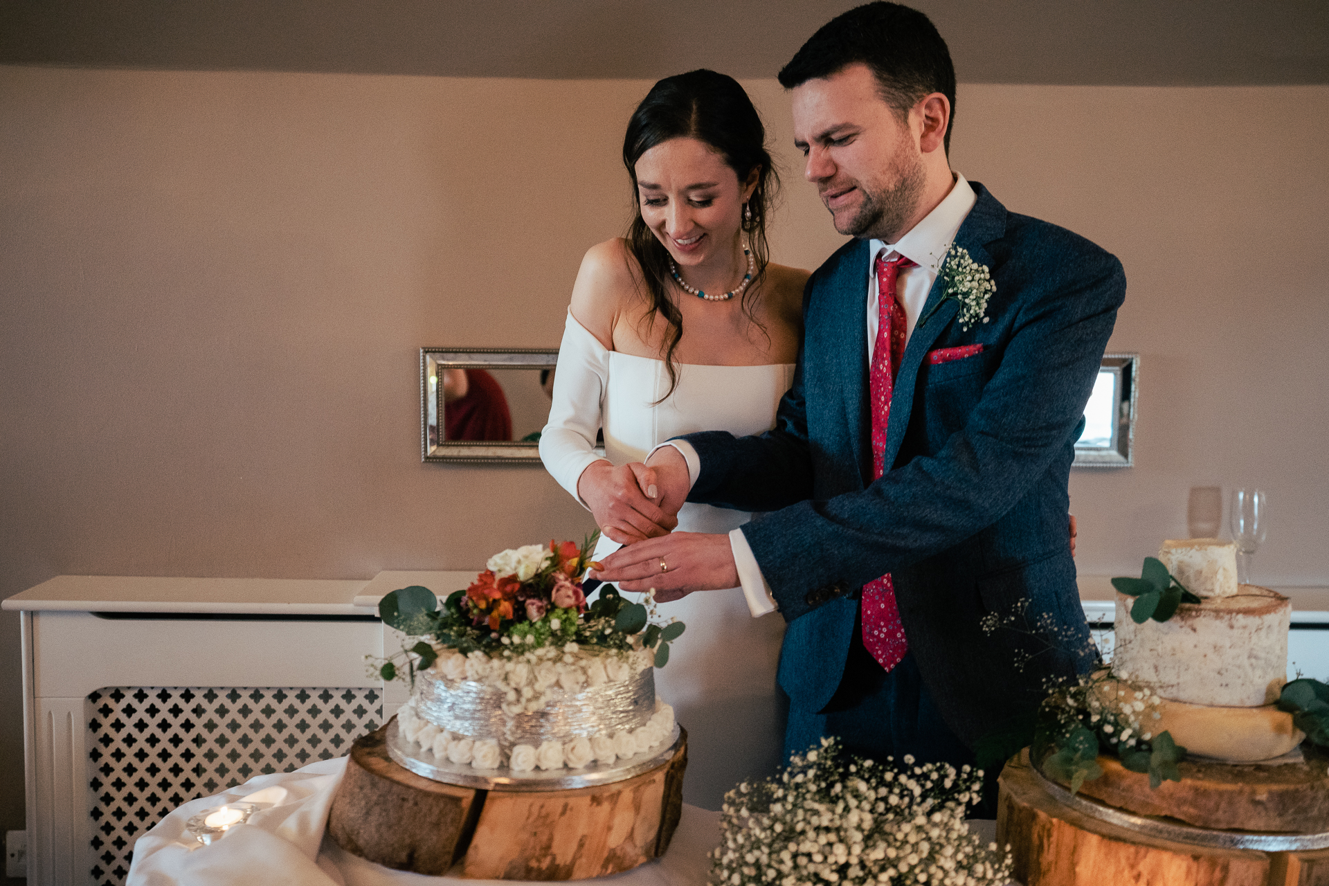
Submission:
[[[905,353],[905,310],[896,300],[896,278],[902,267],[916,267],[916,263],[902,255],[888,262],[882,252],[874,266],[880,319],[877,340],[872,347],[872,369],[868,373],[872,393],[873,478],[886,472],[890,393],[894,389],[896,372],[900,371],[900,360]],[[896,588],[890,583],[890,573],[863,587],[863,644],[886,671],[900,664],[909,650],[904,626],[900,624],[900,607],[896,606]]]

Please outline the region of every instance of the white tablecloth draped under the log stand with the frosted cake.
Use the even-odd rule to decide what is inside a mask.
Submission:
[[[215,797],[191,800],[138,838],[129,886],[388,886],[447,883],[451,877],[425,877],[364,861],[324,838],[332,794],[346,770],[346,757],[324,760],[303,769],[259,776]],[[185,830],[185,822],[203,809],[227,802],[259,806],[247,825],[233,828],[222,840],[203,846]],[[663,858],[603,877],[614,886],[704,886],[708,853],[719,842],[720,813],[683,806],[683,817]],[[502,883],[510,881],[465,881]]]

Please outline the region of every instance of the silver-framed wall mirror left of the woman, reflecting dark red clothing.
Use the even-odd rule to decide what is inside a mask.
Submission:
[[[420,348],[423,461],[538,462],[558,348]]]

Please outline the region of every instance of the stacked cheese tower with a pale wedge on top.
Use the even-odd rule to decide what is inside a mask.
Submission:
[[[1275,704],[1286,683],[1290,600],[1237,584],[1232,542],[1166,541],[1158,559],[1199,602],[1136,623],[1135,596],[1116,592],[1112,672],[1160,699],[1152,731],[1231,762],[1292,751],[1304,735]]]

